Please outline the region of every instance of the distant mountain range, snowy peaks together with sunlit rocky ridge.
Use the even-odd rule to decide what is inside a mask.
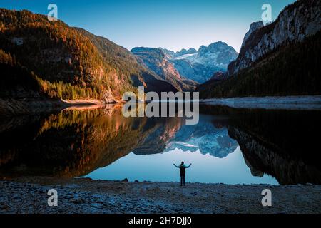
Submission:
[[[199,83],[208,81],[215,73],[225,72],[228,63],[238,57],[233,47],[221,41],[174,52],[165,48],[136,47],[131,52],[141,59],[146,68],[178,90],[195,90]]]

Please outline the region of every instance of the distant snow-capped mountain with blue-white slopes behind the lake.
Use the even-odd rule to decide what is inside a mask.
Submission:
[[[226,71],[228,64],[238,57],[233,47],[221,41],[200,46],[198,51],[194,48],[178,52],[162,50],[181,76],[199,83],[208,81],[218,71]]]

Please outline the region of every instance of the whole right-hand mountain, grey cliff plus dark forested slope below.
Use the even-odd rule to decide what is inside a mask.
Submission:
[[[203,98],[320,95],[321,1],[295,1],[271,24],[251,24],[240,54],[219,78],[198,86]]]

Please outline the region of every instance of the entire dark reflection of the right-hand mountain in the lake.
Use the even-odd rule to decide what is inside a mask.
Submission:
[[[266,173],[284,185],[321,184],[320,111],[206,107],[209,112],[229,113],[229,135],[238,141],[253,175]]]

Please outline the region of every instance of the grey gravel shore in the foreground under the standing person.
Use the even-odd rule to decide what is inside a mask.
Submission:
[[[58,206],[49,207],[50,189]],[[272,192],[263,207],[262,190]],[[0,213],[321,213],[320,185],[224,185],[172,182],[111,182],[21,177],[0,181]]]

